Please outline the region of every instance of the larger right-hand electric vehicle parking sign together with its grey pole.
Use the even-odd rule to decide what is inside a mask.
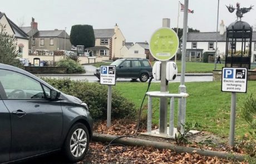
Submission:
[[[234,146],[237,92],[247,92],[247,68],[222,68],[221,91],[231,93],[229,146]]]

